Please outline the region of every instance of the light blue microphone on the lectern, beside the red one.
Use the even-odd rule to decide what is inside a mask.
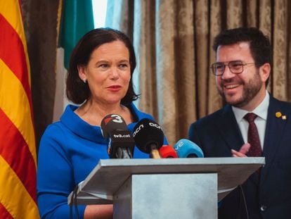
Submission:
[[[203,158],[202,149],[188,139],[180,139],[175,145],[174,149],[179,158]]]

